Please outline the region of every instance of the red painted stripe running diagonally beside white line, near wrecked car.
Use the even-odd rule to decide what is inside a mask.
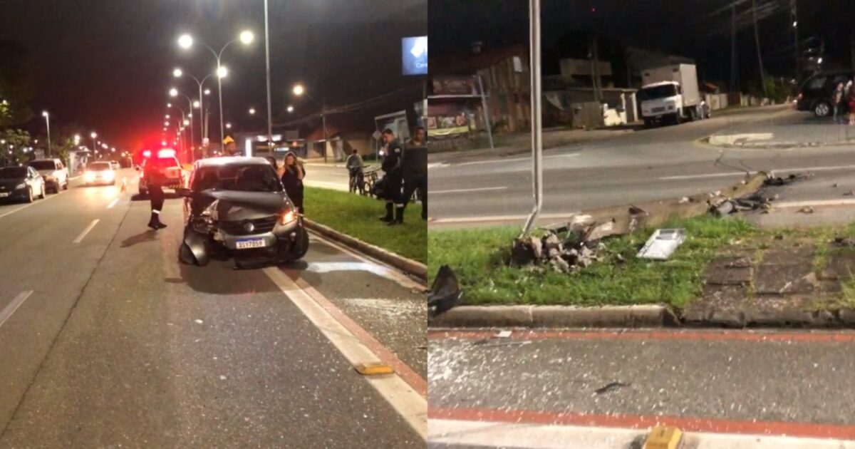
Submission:
[[[336,307],[335,304],[330,302],[330,300],[321,292],[315,290],[315,287],[310,286],[309,283],[304,281],[297,272],[291,269],[285,269],[283,271],[285,271],[286,275],[297,283],[298,287],[302,288],[304,292],[312,297],[312,299],[315,299],[315,302],[321,304],[321,307],[323,307],[324,310],[327,310],[327,313],[332,315],[336,321],[345,327],[345,329],[357,337],[357,339],[362,342],[363,345],[368,347],[371,352],[374,352],[374,355],[380,358],[381,362],[386,363],[391,366],[392,369],[395,369],[395,372],[401,376],[401,379],[416,390],[416,393],[421,394],[422,398],[428,398],[428,381],[422,379],[421,375],[418,375],[416,371],[413,371],[413,369],[410,368],[409,365],[402,362],[398,356],[386,349],[386,346],[383,346],[380,341],[375,339],[374,335],[369,334],[369,332],[363,329],[359,324],[357,324],[357,322],[353,321],[350,316],[345,315],[345,312]]]

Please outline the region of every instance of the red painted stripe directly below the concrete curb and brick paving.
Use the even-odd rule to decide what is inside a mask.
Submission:
[[[428,340],[481,340],[490,338],[496,331],[429,331]],[[852,332],[752,332],[745,330],[692,331],[515,331],[516,340],[703,340],[703,341],[787,341],[809,343],[855,342]]]

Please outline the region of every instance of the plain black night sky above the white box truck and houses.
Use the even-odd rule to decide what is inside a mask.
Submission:
[[[556,74],[557,59],[569,56],[566,35],[596,31],[624,44],[692,57],[710,78],[729,80],[729,5],[734,1],[742,13],[737,38],[742,77],[751,76],[758,66],[752,17],[746,14],[751,0],[541,0],[544,73]],[[792,76],[795,65],[789,1],[756,0],[764,66],[781,77]],[[473,41],[482,41],[486,49],[528,44],[526,0],[428,4],[433,56],[465,52]],[[852,0],[798,0],[800,40],[824,39],[829,67],[850,65],[853,5]]]

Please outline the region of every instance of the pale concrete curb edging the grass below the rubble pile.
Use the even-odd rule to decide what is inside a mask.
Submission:
[[[677,319],[663,305],[461,305],[428,322],[432,328],[660,328]]]

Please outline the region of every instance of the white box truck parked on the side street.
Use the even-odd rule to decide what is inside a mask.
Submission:
[[[674,64],[641,73],[641,116],[646,126],[669,121],[710,117],[710,109],[700,96],[698,69],[693,64]]]

